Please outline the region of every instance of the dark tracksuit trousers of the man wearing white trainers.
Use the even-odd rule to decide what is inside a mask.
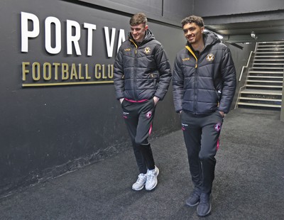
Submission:
[[[121,106],[139,172],[145,174],[147,169],[155,169],[151,145],[148,143],[155,114],[155,102],[153,99],[142,101],[124,99]]]

